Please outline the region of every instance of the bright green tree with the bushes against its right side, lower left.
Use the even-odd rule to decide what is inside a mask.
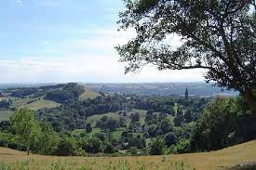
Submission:
[[[10,117],[11,130],[16,135],[13,139],[19,140],[27,147],[42,154],[52,154],[58,145],[58,137],[52,127],[39,123],[34,119],[34,111],[20,109]],[[29,152],[28,152],[29,153]]]

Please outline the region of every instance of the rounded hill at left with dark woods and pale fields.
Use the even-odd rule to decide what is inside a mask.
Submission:
[[[97,96],[100,96],[100,94],[76,83],[58,85],[2,84],[0,85],[0,102],[6,102],[7,107],[0,107],[0,121],[7,120],[15,109],[27,107],[38,111],[58,108],[64,102],[96,98]]]

